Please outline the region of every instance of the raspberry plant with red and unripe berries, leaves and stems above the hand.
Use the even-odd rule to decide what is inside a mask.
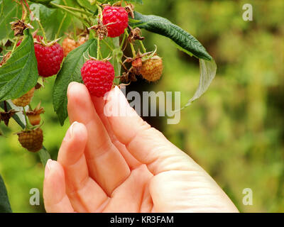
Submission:
[[[145,29],[170,38],[178,49],[200,60],[200,84],[185,106],[198,99],[214,79],[214,60],[196,38],[166,18],[138,13],[135,4],[143,3],[0,1],[0,121],[9,126],[13,118],[21,126],[19,142],[31,152],[39,150],[43,165],[50,157],[40,129],[44,104],[33,109],[31,98],[33,92],[40,92],[38,88],[44,89],[45,77],[56,77],[50,98],[61,125],[67,118],[70,82],[84,82],[91,94],[103,96],[112,86],[135,82],[141,75],[148,82],[157,81],[163,72],[163,56],[158,56],[158,47],[151,51],[143,45]],[[127,46],[131,56],[126,56]],[[11,210],[9,202],[5,206]]]

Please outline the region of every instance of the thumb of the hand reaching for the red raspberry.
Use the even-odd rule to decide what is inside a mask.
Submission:
[[[119,87],[109,92],[104,106],[116,138],[129,153],[146,164],[153,175],[168,170],[204,171],[188,155],[168,141],[160,131],[138,116]]]

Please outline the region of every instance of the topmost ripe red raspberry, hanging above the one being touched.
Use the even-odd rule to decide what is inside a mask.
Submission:
[[[107,32],[109,37],[114,38],[124,33],[124,29],[129,25],[129,14],[124,7],[119,6],[105,6],[102,11],[102,23],[107,25]]]

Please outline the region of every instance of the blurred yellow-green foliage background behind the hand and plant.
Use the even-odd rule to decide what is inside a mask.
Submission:
[[[284,211],[284,1],[143,0],[136,10],[170,19],[189,31],[217,62],[217,77],[207,93],[182,110],[180,123],[158,128],[185,150],[217,181],[243,212]],[[253,21],[244,21],[242,6],[253,6]],[[164,74],[148,85],[158,91],[180,91],[182,105],[199,82],[198,60],[175,49],[168,38],[148,32],[148,50],[158,45]],[[56,159],[69,123],[61,127],[53,111],[52,88],[35,92],[41,100],[45,147]],[[157,124],[157,123],[156,123]],[[0,125],[0,173],[14,212],[42,212],[43,166],[38,155],[18,144],[20,127]],[[29,204],[31,188],[41,192],[40,206]],[[253,190],[253,205],[242,203],[243,189]]]

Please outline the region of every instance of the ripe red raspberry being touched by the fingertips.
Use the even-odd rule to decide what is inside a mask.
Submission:
[[[81,75],[89,93],[102,97],[112,87],[114,67],[110,62],[87,60],[81,68]]]

